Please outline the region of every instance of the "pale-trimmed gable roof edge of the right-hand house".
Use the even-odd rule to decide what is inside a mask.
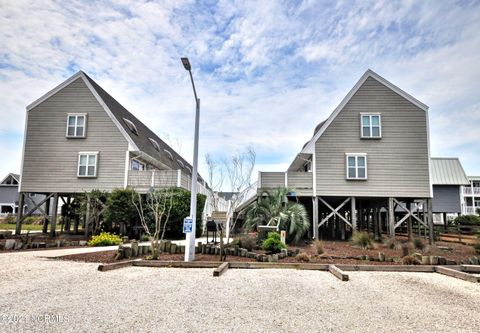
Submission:
[[[325,130],[328,128],[328,126],[330,126],[332,121],[338,116],[340,111],[342,111],[342,109],[350,101],[350,99],[353,97],[353,95],[355,95],[355,93],[358,91],[358,89],[360,89],[360,87],[370,77],[377,80],[378,82],[380,82],[381,84],[383,84],[387,88],[390,88],[395,93],[399,94],[400,96],[402,96],[403,98],[405,98],[406,100],[408,100],[412,104],[416,105],[420,109],[422,109],[424,111],[428,111],[428,106],[427,105],[423,104],[422,102],[420,102],[418,99],[416,99],[412,95],[406,93],[405,91],[403,91],[402,89],[400,89],[399,87],[397,87],[396,85],[391,83],[390,81],[387,81],[386,79],[384,79],[383,77],[381,77],[380,75],[378,75],[377,73],[372,71],[371,69],[368,69],[365,72],[365,74],[362,75],[360,80],[358,80],[358,82],[355,84],[355,86],[349,91],[347,96],[345,96],[345,98],[342,100],[342,102],[335,108],[335,110],[327,118],[327,120],[325,120],[325,121],[323,121],[323,122],[321,122],[320,124],[317,125],[317,127],[315,128],[313,137],[310,139],[310,141],[308,141],[307,144],[305,144],[301,153],[310,153],[310,154],[313,153],[313,151],[315,149],[315,142],[317,142],[318,138],[320,138],[320,136],[325,132]]]

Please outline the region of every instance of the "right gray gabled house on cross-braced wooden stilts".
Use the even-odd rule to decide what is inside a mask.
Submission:
[[[431,210],[417,213],[431,205],[429,170],[428,107],[368,70],[286,172],[259,173],[258,191],[294,188],[314,238],[358,228],[393,236],[404,222],[433,223]]]

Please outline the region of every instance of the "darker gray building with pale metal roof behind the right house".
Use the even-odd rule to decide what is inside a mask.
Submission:
[[[444,223],[447,214],[461,214],[461,189],[468,184],[467,175],[458,158],[432,158],[432,211],[438,214],[436,221]]]

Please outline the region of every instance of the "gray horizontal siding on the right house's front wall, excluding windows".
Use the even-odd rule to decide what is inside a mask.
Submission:
[[[360,138],[360,113],[381,113],[382,138]],[[366,153],[368,180],[346,180],[345,153]],[[430,197],[427,113],[369,77],[315,144],[317,195]]]

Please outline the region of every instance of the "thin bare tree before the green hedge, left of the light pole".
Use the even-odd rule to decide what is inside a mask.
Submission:
[[[152,259],[158,259],[159,243],[165,236],[173,206],[173,191],[171,188],[152,190],[147,192],[145,197],[136,191],[132,193],[132,201],[140,217],[140,223],[152,244]],[[148,223],[149,214],[153,218],[153,225]]]

